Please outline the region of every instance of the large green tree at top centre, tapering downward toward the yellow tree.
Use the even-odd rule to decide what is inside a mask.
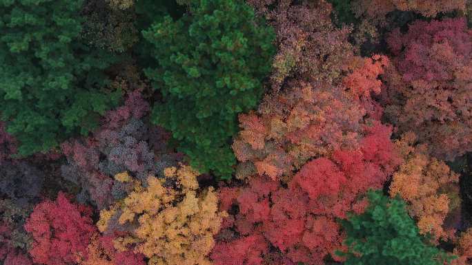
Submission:
[[[164,99],[153,122],[173,131],[199,171],[230,178],[237,114],[256,107],[264,92],[275,34],[244,1],[198,0],[189,8],[143,31],[155,59],[146,76]]]

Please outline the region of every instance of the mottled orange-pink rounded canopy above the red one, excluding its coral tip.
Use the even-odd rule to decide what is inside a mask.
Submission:
[[[309,159],[343,145],[355,146],[365,112],[341,87],[293,82],[284,94],[266,98],[259,112],[240,116],[242,132],[233,142],[237,159],[255,173],[291,177]],[[244,167],[242,169],[248,169]],[[247,178],[237,171],[237,176]]]

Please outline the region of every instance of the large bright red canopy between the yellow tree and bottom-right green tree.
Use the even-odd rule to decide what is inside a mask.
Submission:
[[[239,209],[224,221],[222,233],[236,231],[239,239],[217,242],[212,255],[215,262],[231,264],[225,263],[235,259],[230,250],[239,249],[244,238],[256,235],[267,246],[251,254],[258,264],[271,264],[267,261],[273,257],[269,246],[294,264],[323,264],[326,255],[335,257],[343,239],[336,219],[346,218],[349,211],[362,212],[366,202],[359,200],[360,195],[382,188],[401,162],[390,141],[391,127],[373,122],[362,135],[356,149],[337,149],[331,156],[307,162],[286,186],[257,176],[246,186],[221,189],[220,208],[231,212],[237,205]]]

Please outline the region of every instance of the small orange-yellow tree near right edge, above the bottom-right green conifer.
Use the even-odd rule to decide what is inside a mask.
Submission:
[[[407,133],[396,145],[404,158],[394,173],[390,195],[400,195],[409,203],[420,233],[431,233],[435,240],[453,237],[454,229],[444,228],[444,220],[460,206],[458,174],[441,160],[431,158],[425,145],[413,145],[416,136]]]

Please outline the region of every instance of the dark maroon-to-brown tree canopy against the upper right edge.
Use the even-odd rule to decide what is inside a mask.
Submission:
[[[400,132],[414,131],[433,156],[472,150],[472,30],[464,19],[417,21],[387,39],[395,58],[384,104]]]

